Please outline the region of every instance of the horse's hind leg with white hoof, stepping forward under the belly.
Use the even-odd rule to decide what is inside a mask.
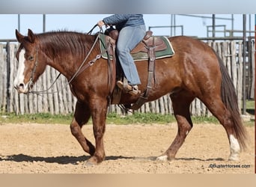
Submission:
[[[185,92],[171,95],[178,131],[171,146],[162,156],[157,157],[158,160],[173,160],[185,141],[186,136],[189,134],[189,131],[192,129],[193,124],[190,117],[189,105],[195,97],[188,95],[189,93]]]

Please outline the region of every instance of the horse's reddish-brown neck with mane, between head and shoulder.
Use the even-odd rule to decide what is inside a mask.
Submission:
[[[71,79],[85,60],[95,39],[93,35],[57,32],[42,35],[40,40],[42,49],[49,58],[47,65],[58,70],[67,79]]]

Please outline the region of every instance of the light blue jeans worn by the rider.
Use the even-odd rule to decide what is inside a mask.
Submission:
[[[129,52],[141,42],[145,33],[145,25],[138,25],[135,27],[127,26],[122,28],[119,32],[117,43],[118,59],[129,85],[141,84],[137,68],[134,64],[132,55],[130,55]]]

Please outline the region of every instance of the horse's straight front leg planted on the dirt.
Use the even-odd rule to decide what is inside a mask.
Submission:
[[[94,98],[90,102],[91,117],[93,120],[95,153],[88,159],[87,165],[96,165],[105,159],[103,135],[106,129],[107,99]]]

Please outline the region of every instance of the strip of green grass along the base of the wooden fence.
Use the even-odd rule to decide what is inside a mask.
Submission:
[[[73,114],[13,114],[0,113],[0,123],[61,123],[70,124],[73,118]],[[193,123],[219,123],[215,117],[192,117]],[[89,120],[91,123],[91,120]],[[120,115],[116,113],[110,113],[107,116],[106,123],[109,124],[135,124],[135,123],[176,123],[173,115],[168,114],[153,114],[153,113],[138,113],[128,115]]]

